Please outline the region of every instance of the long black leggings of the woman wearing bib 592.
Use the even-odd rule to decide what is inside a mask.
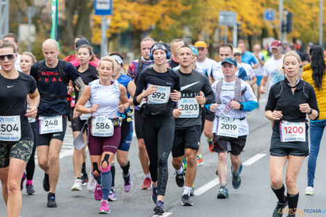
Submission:
[[[150,162],[149,171],[152,181],[157,181],[157,195],[160,196],[164,196],[168,182],[168,158],[173,146],[174,128],[172,112],[167,116],[143,116],[141,130]]]

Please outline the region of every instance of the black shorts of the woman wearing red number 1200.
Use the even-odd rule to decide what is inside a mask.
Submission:
[[[306,141],[281,142],[280,132],[273,130],[269,151],[272,156],[284,157],[294,155],[306,157],[309,155],[308,136],[306,136]]]

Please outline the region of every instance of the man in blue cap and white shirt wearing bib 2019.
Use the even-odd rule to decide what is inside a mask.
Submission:
[[[234,189],[239,189],[241,186],[240,154],[249,134],[246,113],[255,110],[258,106],[250,85],[235,76],[237,61],[228,57],[221,64],[224,78],[212,84],[216,103],[209,106],[209,110],[216,115],[213,133],[214,151],[218,153],[218,179],[221,183],[218,199],[229,197],[226,186],[228,153],[232,163],[232,186]]]

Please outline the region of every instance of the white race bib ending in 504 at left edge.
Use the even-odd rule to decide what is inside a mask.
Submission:
[[[19,141],[21,137],[20,116],[0,116],[0,141]]]

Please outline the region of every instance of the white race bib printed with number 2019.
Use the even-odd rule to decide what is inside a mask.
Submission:
[[[217,134],[224,137],[238,138],[239,119],[218,118]]]

